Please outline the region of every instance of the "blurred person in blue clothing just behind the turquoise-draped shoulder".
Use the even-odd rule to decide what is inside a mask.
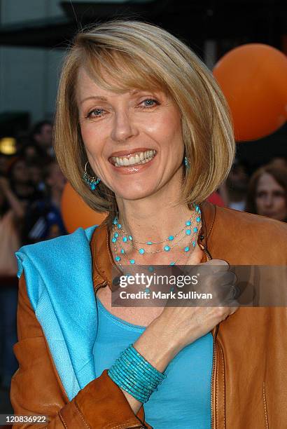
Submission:
[[[45,169],[46,196],[36,200],[25,219],[25,243],[37,243],[66,234],[61,214],[61,198],[66,179],[53,162]]]

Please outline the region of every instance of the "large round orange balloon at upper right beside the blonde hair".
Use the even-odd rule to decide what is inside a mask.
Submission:
[[[250,43],[230,50],[214,67],[228,100],[239,141],[276,131],[287,116],[287,57],[272,46]]]

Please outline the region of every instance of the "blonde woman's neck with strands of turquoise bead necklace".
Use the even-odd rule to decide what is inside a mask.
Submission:
[[[179,200],[181,187],[180,181],[174,181],[146,198],[117,197],[121,226],[113,228],[110,245],[118,264],[186,263],[197,242],[201,222],[195,207]],[[186,225],[187,221],[190,225]],[[149,241],[151,245],[147,245]]]

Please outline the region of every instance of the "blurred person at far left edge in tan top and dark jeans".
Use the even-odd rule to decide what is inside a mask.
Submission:
[[[20,243],[20,224],[25,210],[6,177],[0,177],[0,378],[8,389],[17,369],[13,345],[17,341],[18,297],[15,251]]]

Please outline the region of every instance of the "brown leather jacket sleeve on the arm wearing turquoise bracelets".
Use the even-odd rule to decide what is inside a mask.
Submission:
[[[17,319],[18,343],[13,349],[19,369],[13,375],[10,390],[14,414],[48,416],[49,423],[18,423],[13,428],[152,429],[143,423],[144,407],[136,416],[107,370],[69,402],[41,325],[31,307],[24,275],[19,283]]]

